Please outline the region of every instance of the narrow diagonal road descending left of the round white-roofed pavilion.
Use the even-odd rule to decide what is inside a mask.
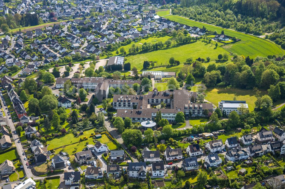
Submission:
[[[95,113],[98,115],[99,113],[99,109],[97,107],[95,107]],[[133,162],[139,162],[138,159],[133,155],[133,153],[131,153],[129,151],[129,149],[125,146],[123,138],[121,137],[121,135],[119,135],[117,133],[117,129],[115,129],[115,127],[113,126],[113,124],[110,124],[110,122],[108,121],[108,118],[105,117],[105,127],[107,128],[108,132],[117,139],[117,141],[122,145],[122,147],[128,152],[128,154],[131,156],[131,158],[133,159]]]

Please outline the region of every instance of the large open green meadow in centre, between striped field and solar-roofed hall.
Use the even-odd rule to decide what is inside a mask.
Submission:
[[[167,36],[166,36],[167,37]],[[209,56],[211,60],[217,59],[218,54],[224,54],[227,51],[221,47],[215,48],[215,45],[205,44],[201,40],[180,46],[172,46],[169,48],[159,49],[156,51],[150,51],[148,53],[139,53],[136,55],[127,56],[126,62],[131,63],[131,67],[136,66],[138,70],[143,69],[144,60],[154,61],[154,66],[161,66],[159,68],[151,68],[148,70],[154,71],[165,71],[165,72],[179,72],[181,67],[183,67],[183,62],[189,57],[192,57],[194,60],[197,58],[206,58]],[[179,66],[168,66],[169,58],[175,57],[175,60],[180,61]],[[208,64],[208,63],[205,63]],[[165,67],[166,66],[166,69]],[[176,70],[176,68],[178,68]]]

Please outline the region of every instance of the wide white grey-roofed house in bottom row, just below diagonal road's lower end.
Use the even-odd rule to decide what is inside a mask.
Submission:
[[[146,163],[145,162],[129,163],[128,176],[138,179],[146,179]]]

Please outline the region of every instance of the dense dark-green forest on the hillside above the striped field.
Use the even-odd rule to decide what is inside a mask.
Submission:
[[[181,0],[172,14],[262,35],[278,31],[285,24],[284,0]]]

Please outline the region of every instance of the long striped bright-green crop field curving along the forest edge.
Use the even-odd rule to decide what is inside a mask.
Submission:
[[[224,28],[220,28],[217,26],[212,26],[209,24],[204,24],[201,22],[195,22],[192,20],[189,20],[187,18],[182,18],[180,16],[165,16],[165,18],[168,18],[170,20],[179,22],[181,24],[186,24],[189,26],[196,26],[202,28],[205,26],[207,30],[212,30],[212,31],[217,31],[218,33],[221,33],[222,30],[224,30],[226,35],[229,35],[231,37],[237,37],[238,39],[241,39],[241,41],[234,43],[234,44],[229,44],[223,46],[224,49],[231,53],[237,53],[239,55],[245,55],[245,56],[250,56],[251,58],[255,58],[256,56],[268,56],[268,55],[273,55],[273,54],[278,54],[278,55],[283,55],[284,50],[276,45],[275,43],[261,39],[252,35],[247,35],[244,33],[236,32],[233,30],[228,30]],[[197,49],[195,49],[196,51]],[[207,54],[207,53],[206,53]],[[221,53],[223,54],[223,53]]]

